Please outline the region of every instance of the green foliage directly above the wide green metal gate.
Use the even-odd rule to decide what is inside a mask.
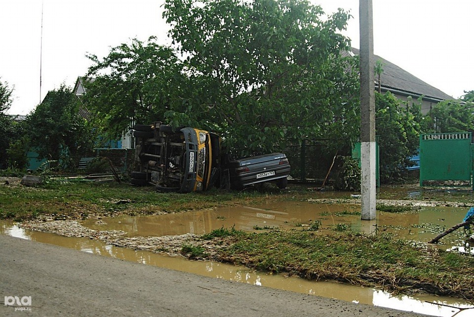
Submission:
[[[473,103],[470,101],[466,105],[452,100],[440,102],[428,116],[434,132],[474,132]]]

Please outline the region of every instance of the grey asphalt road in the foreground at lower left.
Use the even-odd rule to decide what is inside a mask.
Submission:
[[[6,235],[0,235],[0,250],[0,316],[426,316],[202,277]],[[5,305],[14,296],[27,305]]]

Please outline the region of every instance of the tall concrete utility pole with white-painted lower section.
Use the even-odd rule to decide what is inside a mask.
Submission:
[[[375,86],[372,0],[359,0],[360,30],[360,162],[362,220],[375,214]]]

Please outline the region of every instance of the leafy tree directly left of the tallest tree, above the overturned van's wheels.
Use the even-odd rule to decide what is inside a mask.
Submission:
[[[156,43],[132,40],[111,49],[108,56],[88,58],[85,104],[95,126],[111,138],[131,128],[133,122],[164,119],[174,91],[183,86],[181,63],[173,50]]]

